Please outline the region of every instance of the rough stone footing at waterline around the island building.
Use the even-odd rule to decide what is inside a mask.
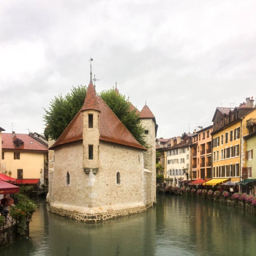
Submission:
[[[127,209],[121,210],[106,210],[106,211],[99,211],[96,213],[80,213],[76,210],[69,211],[63,208],[58,208],[54,206],[50,206],[50,212],[59,214],[61,216],[69,217],[70,219],[76,219],[78,221],[84,221],[87,223],[96,223],[100,221],[104,221],[107,219],[115,219],[117,217],[122,217],[126,215],[131,215],[135,213],[140,213],[146,211],[147,208],[151,207],[152,204],[148,204],[148,206],[137,206],[137,207],[129,207]]]

